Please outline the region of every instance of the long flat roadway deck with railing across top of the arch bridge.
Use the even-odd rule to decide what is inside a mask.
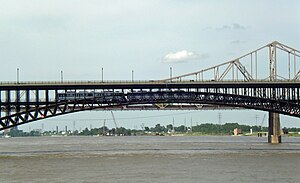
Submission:
[[[282,81],[48,81],[0,82],[0,90],[155,89],[155,88],[299,88],[300,80]]]

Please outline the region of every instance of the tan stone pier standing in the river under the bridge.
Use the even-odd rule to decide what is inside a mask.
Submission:
[[[281,143],[280,118],[278,113],[269,112],[268,143]]]

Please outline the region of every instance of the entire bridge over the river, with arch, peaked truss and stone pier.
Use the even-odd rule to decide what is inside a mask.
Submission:
[[[254,109],[300,117],[300,52],[274,41],[239,58],[162,80],[0,82],[0,130],[84,110]]]

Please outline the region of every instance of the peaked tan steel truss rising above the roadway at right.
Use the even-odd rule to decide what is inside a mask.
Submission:
[[[241,57],[162,81],[298,81],[300,51],[278,41]]]

